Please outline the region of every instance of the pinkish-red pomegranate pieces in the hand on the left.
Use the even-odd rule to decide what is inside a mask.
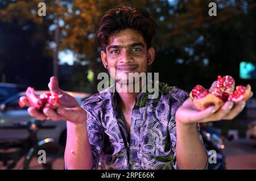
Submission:
[[[31,107],[34,107],[41,112],[45,107],[52,108],[53,110],[59,107],[59,96],[54,92],[44,92],[41,95],[36,95],[35,90],[32,87],[28,87],[26,96]],[[19,106],[24,107],[25,105],[22,102],[19,102]]]

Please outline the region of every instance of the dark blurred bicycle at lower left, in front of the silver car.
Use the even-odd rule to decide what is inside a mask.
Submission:
[[[0,169],[5,167],[9,170],[21,167],[24,170],[51,170],[60,165],[61,169],[64,169],[63,146],[57,144],[53,138],[38,141],[37,132],[43,122],[33,118],[27,122],[14,124],[12,129],[27,129],[28,137],[21,140],[0,140],[0,162],[2,162]],[[58,162],[61,164],[58,165]]]

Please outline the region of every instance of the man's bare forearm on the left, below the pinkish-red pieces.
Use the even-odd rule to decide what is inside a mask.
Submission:
[[[93,158],[86,124],[73,124],[67,121],[65,165],[67,169],[92,169]]]

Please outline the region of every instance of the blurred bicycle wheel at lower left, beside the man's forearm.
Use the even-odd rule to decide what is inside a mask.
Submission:
[[[63,170],[64,148],[48,142],[26,156],[24,170]]]

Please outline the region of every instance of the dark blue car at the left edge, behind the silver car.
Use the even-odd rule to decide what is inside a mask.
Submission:
[[[26,91],[27,86],[15,83],[0,83],[0,103],[18,94],[19,92]]]

